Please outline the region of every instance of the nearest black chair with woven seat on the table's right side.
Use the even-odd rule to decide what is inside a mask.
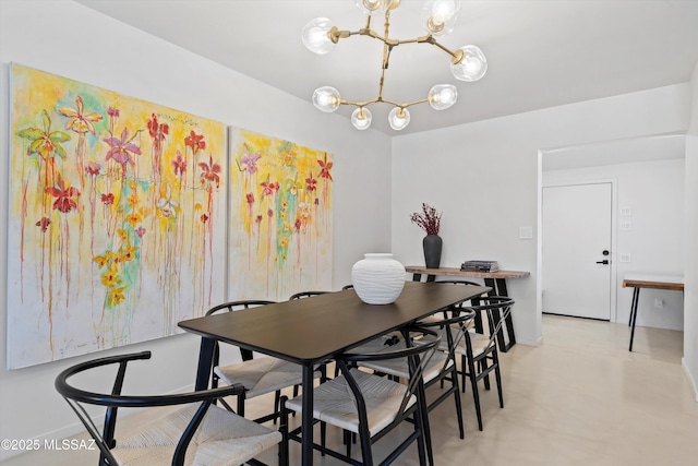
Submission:
[[[373,465],[372,445],[402,421],[411,419],[412,432],[399,442],[381,463],[394,462],[409,445],[417,442],[420,465],[426,464],[424,439],[429,435],[425,419],[423,371],[441,343],[441,336],[422,327],[404,328],[401,335],[406,345],[378,353],[347,351],[336,357],[341,374],[313,390],[313,418],[323,423],[345,430],[347,454],[327,449],[324,443],[313,443],[313,447],[324,454],[354,465]],[[358,351],[358,350],[357,350]],[[407,359],[409,379],[406,383],[361,371],[359,363],[382,359]],[[302,396],[293,399],[281,398],[281,446],[282,464],[288,464],[289,440],[302,441],[299,430],[289,430],[290,411],[302,410]],[[362,461],[351,458],[351,434],[358,434]]]

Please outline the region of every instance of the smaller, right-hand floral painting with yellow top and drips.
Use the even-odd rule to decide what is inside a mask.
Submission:
[[[230,151],[230,298],[332,289],[332,156],[238,128]]]

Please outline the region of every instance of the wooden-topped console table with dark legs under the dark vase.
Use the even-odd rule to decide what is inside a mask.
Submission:
[[[507,278],[524,278],[530,275],[530,272],[516,272],[516,271],[498,271],[498,272],[466,272],[455,267],[440,267],[440,268],[426,268],[418,265],[408,265],[405,270],[412,274],[414,282],[421,282],[422,275],[426,275],[426,282],[434,282],[436,275],[460,277],[460,278],[482,278],[485,286],[492,288],[494,296],[509,296],[506,289]],[[506,337],[504,330],[506,328]],[[508,342],[507,342],[508,337]],[[503,353],[509,350],[509,348],[516,345],[516,335],[514,333],[514,323],[512,322],[512,314],[507,315],[504,325],[497,334],[497,343],[500,349]]]

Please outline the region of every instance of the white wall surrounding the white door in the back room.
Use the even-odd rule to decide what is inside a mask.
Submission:
[[[658,158],[661,154],[658,154]],[[616,276],[615,314],[612,322],[628,322],[631,288],[623,288],[626,272],[684,272],[684,177],[685,160],[642,162],[573,170],[543,171],[543,186],[595,180],[614,180],[617,189],[615,212],[631,208],[630,216],[616,216],[617,241],[612,251]],[[619,222],[630,222],[629,231],[619,230]],[[630,263],[619,261],[630,254]],[[664,307],[654,308],[654,299]],[[684,328],[683,297],[675,291],[645,289],[640,294],[637,325],[659,328]]]

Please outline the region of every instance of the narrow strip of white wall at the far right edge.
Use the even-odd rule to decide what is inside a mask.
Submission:
[[[693,117],[686,135],[686,271],[684,369],[698,402],[698,63],[690,80]]]

